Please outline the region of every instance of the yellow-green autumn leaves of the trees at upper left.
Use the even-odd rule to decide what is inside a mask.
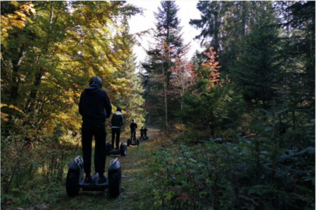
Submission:
[[[37,126],[51,133],[58,124],[79,130],[77,103],[89,77],[101,77],[107,92],[125,91],[127,80],[113,73],[131,56],[132,37],[123,29],[140,9],[123,1],[35,2],[34,8],[25,27],[8,30],[2,43],[2,102],[36,116]]]

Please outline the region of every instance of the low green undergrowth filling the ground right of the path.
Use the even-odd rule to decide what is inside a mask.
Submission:
[[[283,113],[277,113],[253,125],[253,137],[234,133],[235,144],[210,139],[155,150],[155,208],[313,208],[314,124],[281,134],[275,118]],[[289,145],[295,135],[299,142]]]

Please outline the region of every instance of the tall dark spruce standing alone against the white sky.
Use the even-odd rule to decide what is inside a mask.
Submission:
[[[171,100],[168,95],[171,88],[171,71],[168,70],[174,65],[176,56],[188,47],[181,37],[178,11],[179,8],[174,1],[161,1],[161,7],[158,8],[157,13],[154,13],[157,21],[154,34],[155,47],[148,50],[149,57],[143,63],[142,72],[144,97],[150,110],[147,117],[151,122],[165,124],[166,129],[168,129],[167,118],[173,120],[173,110],[180,107],[179,102]]]

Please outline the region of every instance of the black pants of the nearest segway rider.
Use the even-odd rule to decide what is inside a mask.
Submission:
[[[91,175],[91,153],[92,153],[92,137],[94,136],[94,168],[99,176],[103,175],[105,168],[105,139],[106,131],[104,122],[83,122],[82,123],[82,153],[83,167],[86,176]]]

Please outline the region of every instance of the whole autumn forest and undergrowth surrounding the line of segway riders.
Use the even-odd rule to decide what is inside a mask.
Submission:
[[[108,209],[315,209],[315,1],[199,1],[192,58],[178,4],[161,1],[136,71],[132,1],[1,1],[1,209],[116,202],[64,188],[92,76],[124,135],[132,119],[160,129],[129,150],[141,198]]]

